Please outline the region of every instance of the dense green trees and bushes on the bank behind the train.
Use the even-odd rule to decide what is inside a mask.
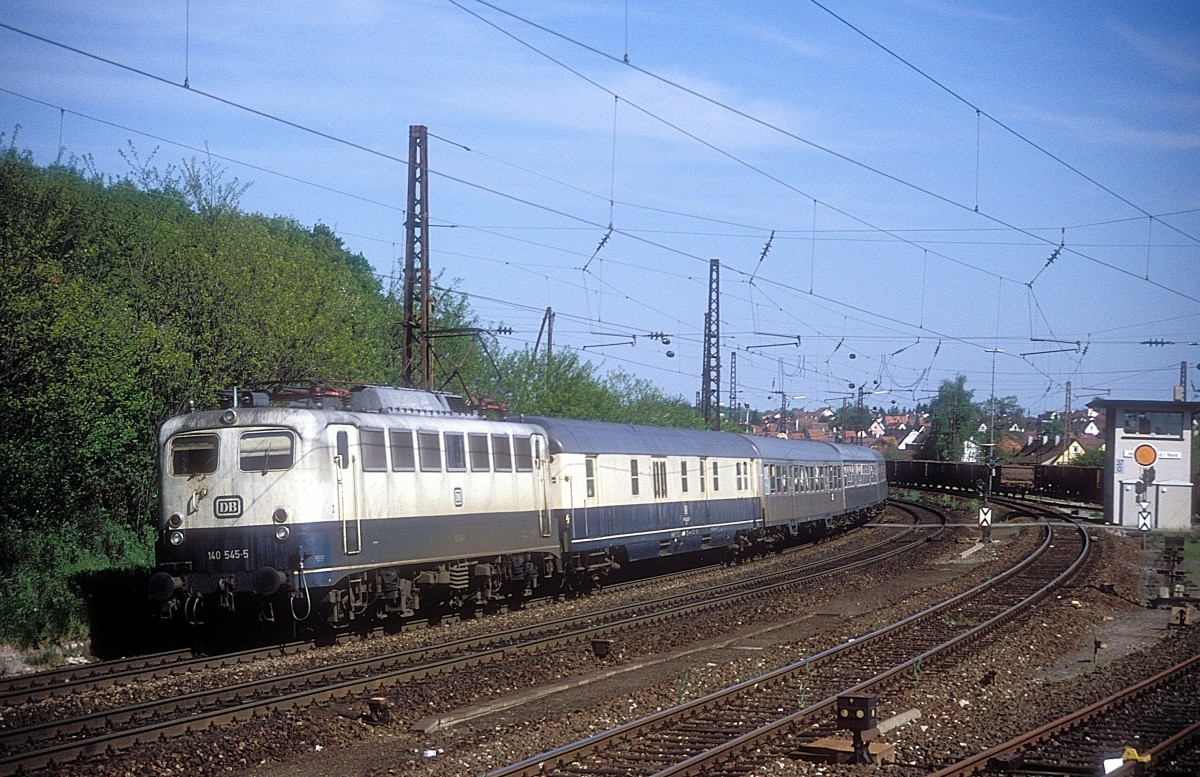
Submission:
[[[0,642],[82,637],[76,582],[152,565],[156,429],[230,386],[395,383],[402,308],[323,224],[246,213],[211,159],[41,168],[0,134]],[[440,293],[438,327],[479,323]],[[700,426],[571,353],[439,338],[438,386],[517,412]]]

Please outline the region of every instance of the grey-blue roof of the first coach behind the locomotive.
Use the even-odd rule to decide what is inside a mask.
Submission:
[[[546,430],[551,453],[755,457],[754,446],[740,434],[545,416],[520,420]]]

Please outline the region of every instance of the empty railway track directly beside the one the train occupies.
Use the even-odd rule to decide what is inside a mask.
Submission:
[[[911,508],[908,508],[911,510]],[[916,514],[916,513],[913,513]],[[702,610],[730,607],[748,598],[779,596],[815,578],[904,553],[924,541],[937,524],[920,523],[886,531],[881,541],[838,556],[788,570],[750,576],[736,583],[688,590],[634,606],[594,610],[569,618],[462,639],[308,668],[116,709],[96,710],[68,719],[28,722],[0,731],[0,775],[62,764],[79,757],[119,751],[136,742],[169,737],[187,730],[245,719],[272,710],[330,699],[355,698],[377,688],[451,673],[468,665],[499,662],[516,655],[601,637],[622,630]],[[6,716],[10,717],[11,716]]]

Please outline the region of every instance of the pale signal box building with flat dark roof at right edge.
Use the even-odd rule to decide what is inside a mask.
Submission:
[[[1104,518],[1142,531],[1192,529],[1192,436],[1200,402],[1094,399],[1103,410]]]

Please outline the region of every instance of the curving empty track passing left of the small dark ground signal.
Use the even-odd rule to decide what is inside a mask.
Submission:
[[[1057,517],[1056,517],[1057,518]],[[841,693],[880,694],[970,649],[1068,580],[1090,550],[1086,531],[1060,520],[1008,573],[851,643],[595,736],[491,777],[533,775],[760,773],[834,735]]]

